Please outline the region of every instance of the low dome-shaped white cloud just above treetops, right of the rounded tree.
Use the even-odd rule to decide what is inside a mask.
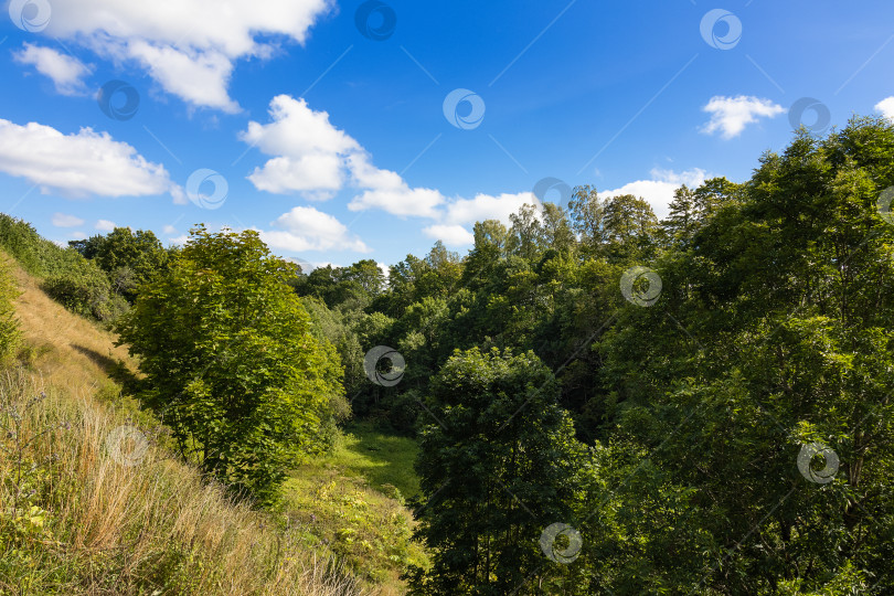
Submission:
[[[260,240],[274,248],[305,251],[353,251],[369,253],[370,247],[334,216],[310,206],[297,206],[272,224],[276,230],[258,231]]]

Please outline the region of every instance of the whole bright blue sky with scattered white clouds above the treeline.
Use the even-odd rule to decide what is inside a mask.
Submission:
[[[545,178],[662,215],[681,183],[747,179],[792,121],[894,118],[887,0],[6,8],[0,211],[57,242],[204,222],[394,264],[465,253]]]

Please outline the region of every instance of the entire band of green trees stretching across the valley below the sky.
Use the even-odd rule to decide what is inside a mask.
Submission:
[[[349,418],[416,439],[413,594],[886,594],[893,200],[894,126],[854,118],[664,220],[579,187],[387,275],[201,225],[0,243],[257,507]]]

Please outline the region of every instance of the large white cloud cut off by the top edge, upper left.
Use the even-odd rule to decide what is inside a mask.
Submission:
[[[143,67],[167,92],[236,111],[227,87],[238,60],[267,58],[283,41],[304,43],[331,0],[53,0],[44,34],[105,58]]]

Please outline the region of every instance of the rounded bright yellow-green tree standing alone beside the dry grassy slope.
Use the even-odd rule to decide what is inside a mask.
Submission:
[[[287,285],[296,273],[254,232],[198,227],[118,324],[181,450],[263,501],[328,447],[321,430],[343,401],[334,348]]]

